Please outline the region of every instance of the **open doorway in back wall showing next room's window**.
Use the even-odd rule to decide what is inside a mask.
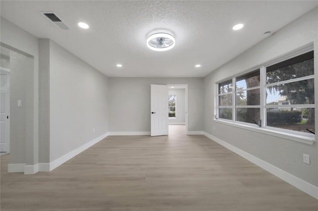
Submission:
[[[168,84],[169,135],[188,133],[188,85]]]

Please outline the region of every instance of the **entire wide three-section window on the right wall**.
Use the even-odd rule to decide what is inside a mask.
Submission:
[[[314,51],[219,83],[217,118],[315,132]]]

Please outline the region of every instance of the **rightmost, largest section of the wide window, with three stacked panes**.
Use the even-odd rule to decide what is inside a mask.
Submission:
[[[315,131],[313,51],[266,67],[265,88],[267,126]]]

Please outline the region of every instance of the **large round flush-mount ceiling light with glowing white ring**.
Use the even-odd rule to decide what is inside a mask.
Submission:
[[[156,33],[148,37],[147,46],[153,51],[163,52],[172,49],[175,39],[167,33]]]

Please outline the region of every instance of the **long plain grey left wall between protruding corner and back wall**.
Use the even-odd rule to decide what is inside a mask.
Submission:
[[[53,41],[49,78],[52,162],[109,131],[109,88],[107,76]]]

